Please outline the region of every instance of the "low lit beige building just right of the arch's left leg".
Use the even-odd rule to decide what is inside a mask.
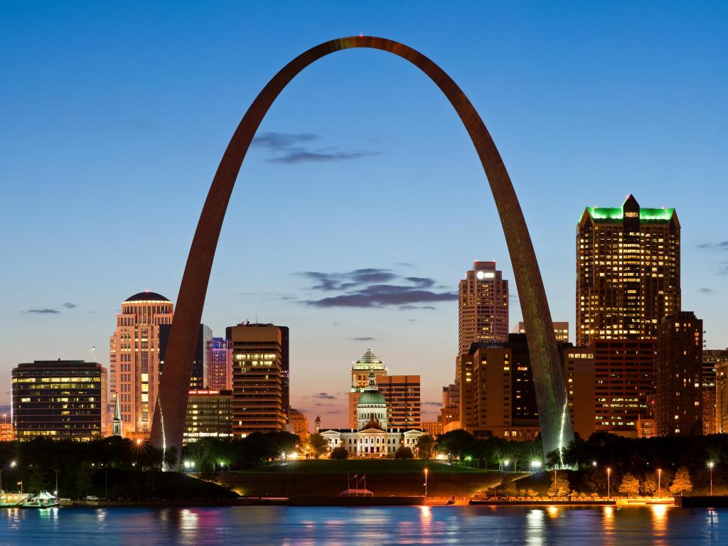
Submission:
[[[232,391],[191,389],[187,397],[183,443],[201,438],[232,438]]]

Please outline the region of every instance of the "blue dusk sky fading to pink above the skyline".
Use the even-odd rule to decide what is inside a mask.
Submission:
[[[95,345],[108,363],[124,298],[176,299],[245,109],[298,53],[360,33],[422,51],[470,96],[521,199],[554,320],[573,329],[580,213],[633,193],[676,207],[684,309],[705,320],[708,347],[728,346],[724,2],[3,1],[0,403],[19,362],[88,359]],[[437,295],[475,259],[513,280],[451,106],[403,60],[339,52],[285,90],[261,132],[205,323],[218,335],[256,317],[290,325],[293,404],[328,426],[344,424],[349,363],[368,346],[390,373],[421,373],[423,401],[439,403],[457,312]],[[377,306],[312,305],[352,292]],[[520,315],[513,302],[510,322]]]

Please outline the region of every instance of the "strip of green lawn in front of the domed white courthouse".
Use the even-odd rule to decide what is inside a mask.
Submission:
[[[331,459],[291,461],[275,466],[253,468],[242,472],[424,472],[427,468],[433,473],[486,473],[492,470],[451,466],[445,462],[422,461],[420,459]]]

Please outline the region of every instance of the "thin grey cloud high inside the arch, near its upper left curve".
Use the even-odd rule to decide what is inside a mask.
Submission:
[[[253,138],[253,146],[269,153],[267,161],[292,165],[303,162],[348,161],[379,154],[373,150],[340,150],[329,147],[310,146],[320,140],[311,132],[261,132]]]

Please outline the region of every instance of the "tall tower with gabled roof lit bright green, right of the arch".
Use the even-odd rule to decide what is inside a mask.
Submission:
[[[680,223],[674,209],[587,207],[577,226],[577,344],[656,339],[680,309]]]

